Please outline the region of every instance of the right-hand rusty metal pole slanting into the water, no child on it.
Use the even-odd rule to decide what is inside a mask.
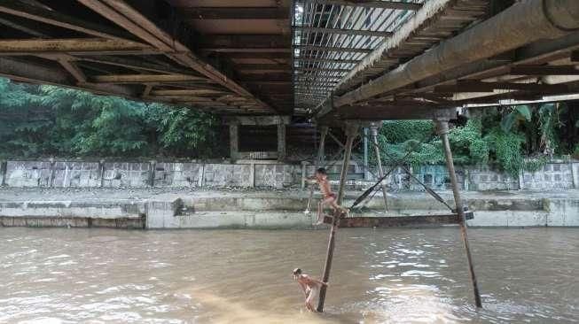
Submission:
[[[446,156],[446,166],[449,169],[450,183],[452,185],[452,194],[454,195],[454,203],[458,213],[460,226],[460,234],[465,245],[466,259],[468,260],[468,270],[471,275],[471,282],[473,284],[474,304],[477,307],[482,307],[481,294],[479,293],[479,285],[476,282],[476,275],[474,274],[473,258],[471,250],[468,245],[468,235],[466,234],[466,218],[465,210],[463,209],[462,201],[460,200],[460,193],[458,192],[457,174],[454,170],[454,163],[452,161],[452,151],[450,150],[449,142],[449,122],[448,120],[436,120],[436,131],[442,138],[444,145],[444,155]]]

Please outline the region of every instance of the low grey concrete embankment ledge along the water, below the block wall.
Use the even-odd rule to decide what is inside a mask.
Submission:
[[[360,192],[347,193],[345,206]],[[452,205],[450,192],[441,196]],[[577,227],[579,190],[466,192],[474,227]],[[110,228],[313,228],[299,190],[0,189],[0,226]],[[424,193],[378,195],[352,216],[449,213]]]

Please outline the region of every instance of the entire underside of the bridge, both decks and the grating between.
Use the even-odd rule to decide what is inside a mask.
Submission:
[[[223,115],[432,119],[579,93],[574,0],[4,0],[0,75]]]

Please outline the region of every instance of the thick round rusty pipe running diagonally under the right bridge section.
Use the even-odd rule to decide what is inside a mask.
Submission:
[[[531,42],[570,35],[579,27],[577,16],[575,0],[519,2],[333,102],[340,106],[364,101]]]

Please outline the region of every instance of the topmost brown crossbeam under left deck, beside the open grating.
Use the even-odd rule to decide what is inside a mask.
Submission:
[[[179,8],[180,17],[192,19],[289,19],[284,7],[186,7]]]

